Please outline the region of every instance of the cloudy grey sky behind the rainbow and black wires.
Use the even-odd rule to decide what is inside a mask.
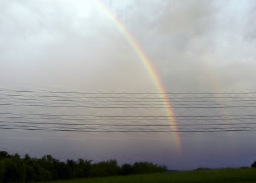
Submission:
[[[253,0],[0,0],[0,89],[158,93],[159,88],[134,47],[100,5],[117,18],[143,50],[166,92],[256,91],[256,2]],[[12,93],[15,92],[0,92]],[[255,93],[246,96],[255,97]],[[175,106],[175,101],[171,100],[170,104]],[[10,100],[0,99],[0,103]],[[249,104],[253,105],[251,101]],[[132,108],[0,105],[0,110],[26,114],[166,115],[165,109]],[[172,111],[175,116],[255,114],[253,107],[174,108]],[[11,120],[0,115],[3,121]],[[0,129],[0,150],[36,157],[52,154],[61,160],[117,159],[120,163],[145,160],[166,164],[170,169],[242,167],[256,160],[254,131],[179,133],[178,136],[180,142],[173,133]]]

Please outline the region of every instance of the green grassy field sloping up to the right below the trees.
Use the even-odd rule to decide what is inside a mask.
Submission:
[[[146,175],[84,178],[61,183],[165,183],[165,182],[256,182],[256,168],[240,169],[201,169],[187,172],[154,173]],[[52,182],[53,183],[53,182]]]

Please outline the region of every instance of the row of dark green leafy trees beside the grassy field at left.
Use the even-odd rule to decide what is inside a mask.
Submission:
[[[66,180],[71,178],[131,175],[141,173],[167,172],[166,166],[148,162],[136,162],[133,165],[119,166],[116,160],[92,163],[92,160],[71,160],[66,162],[51,155],[31,158],[18,154],[10,155],[0,151],[0,182],[39,182]]]

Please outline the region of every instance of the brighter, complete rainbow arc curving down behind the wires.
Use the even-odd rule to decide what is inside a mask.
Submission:
[[[166,96],[166,92],[164,90],[163,84],[156,73],[154,67],[152,66],[150,59],[147,58],[146,54],[143,52],[142,48],[138,45],[137,41],[131,36],[130,32],[127,31],[127,29],[122,25],[122,23],[117,19],[117,17],[113,14],[113,12],[106,6],[104,3],[102,3],[100,0],[95,0],[96,5],[108,16],[110,20],[115,24],[115,26],[119,29],[119,31],[125,36],[127,42],[131,45],[131,48],[133,48],[134,52],[138,55],[139,60],[142,62],[144,67],[147,70],[148,75],[150,75],[152,81],[154,82],[160,97],[163,100],[163,104],[166,105],[166,113],[170,120],[170,123],[175,125],[175,118],[174,118],[174,112],[172,111],[170,101],[168,100],[168,96]],[[177,126],[173,126],[174,137],[175,137],[175,143],[176,147],[181,152],[181,142],[179,138],[179,133],[177,132]]]

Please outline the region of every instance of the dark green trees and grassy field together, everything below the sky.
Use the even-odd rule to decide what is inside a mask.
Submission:
[[[24,158],[20,158],[18,154],[10,155],[5,151],[0,151],[0,183],[55,180],[58,182],[64,180],[61,181],[63,183],[256,182],[256,161],[251,164],[251,168],[199,168],[189,172],[172,171],[168,173],[167,171],[166,166],[148,162],[136,162],[133,165],[123,164],[121,166],[117,164],[116,160],[92,163],[92,160],[78,159],[75,161],[68,159],[66,162],[62,162],[51,155],[37,159],[26,154]],[[145,173],[147,174],[142,175]]]

